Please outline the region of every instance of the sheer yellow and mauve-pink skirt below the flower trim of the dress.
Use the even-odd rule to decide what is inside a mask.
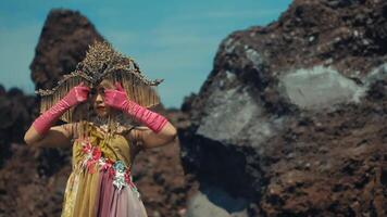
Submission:
[[[140,196],[130,186],[118,189],[107,170],[73,171],[67,180],[62,217],[147,217]]]

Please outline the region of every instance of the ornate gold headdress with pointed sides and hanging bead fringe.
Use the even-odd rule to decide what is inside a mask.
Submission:
[[[139,66],[132,58],[118,53],[105,41],[95,41],[89,46],[85,59],[77,64],[76,69],[64,75],[58,81],[57,87],[35,91],[41,98],[40,113],[49,110],[82,81],[92,88],[97,87],[102,79],[111,80],[113,84],[120,81],[129,99],[142,106],[151,107],[160,104],[157,86],[163,79],[149,80],[141,74]],[[72,107],[60,119],[66,123],[87,119],[88,114],[86,115],[85,107]]]

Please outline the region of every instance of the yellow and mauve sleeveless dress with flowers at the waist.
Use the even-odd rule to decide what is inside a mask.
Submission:
[[[88,137],[73,139],[73,170],[61,216],[147,217],[130,175],[140,148],[121,133],[108,137],[98,125],[86,125]]]

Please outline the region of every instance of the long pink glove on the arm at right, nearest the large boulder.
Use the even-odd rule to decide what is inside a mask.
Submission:
[[[160,132],[166,125],[167,119],[147,107],[143,107],[136,102],[129,100],[120,82],[115,84],[116,89],[104,90],[104,102],[111,107],[121,110],[126,114],[134,116],[137,120],[145,124],[154,132]]]

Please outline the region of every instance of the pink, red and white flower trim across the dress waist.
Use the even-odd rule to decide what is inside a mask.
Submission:
[[[96,173],[96,166],[99,165],[100,170],[107,170],[109,177],[113,178],[113,184],[122,190],[124,187],[129,187],[130,190],[140,197],[135,183],[133,182],[133,176],[129,167],[121,159],[112,161],[102,156],[100,146],[93,146],[88,138],[80,140],[82,150],[85,153],[85,158],[82,163],[82,167],[86,168],[90,174]]]

